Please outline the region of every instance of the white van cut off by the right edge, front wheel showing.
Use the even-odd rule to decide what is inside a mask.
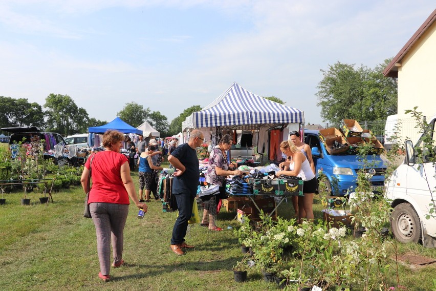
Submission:
[[[394,211],[391,229],[401,242],[422,242],[426,247],[436,247],[436,218],[433,201],[436,201],[436,134],[432,117],[428,128],[415,147],[407,140],[406,158],[385,184],[386,198],[392,200]],[[425,142],[425,136],[431,141]],[[422,149],[422,162],[418,161]],[[430,217],[428,217],[430,216]],[[428,219],[429,218],[429,219]]]

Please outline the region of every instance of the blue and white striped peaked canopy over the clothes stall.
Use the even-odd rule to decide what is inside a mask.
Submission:
[[[192,113],[194,128],[300,122],[304,122],[303,111],[253,94],[236,82],[204,109]]]

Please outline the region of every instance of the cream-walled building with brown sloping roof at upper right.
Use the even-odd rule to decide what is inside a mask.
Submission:
[[[418,106],[427,121],[436,114],[436,9],[412,35],[404,47],[388,64],[383,74],[398,78],[398,119],[409,128],[411,115],[404,111]],[[415,130],[416,131],[416,130]],[[416,141],[413,136],[403,133]]]

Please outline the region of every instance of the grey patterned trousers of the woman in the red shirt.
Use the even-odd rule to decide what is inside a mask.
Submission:
[[[100,272],[103,275],[108,275],[111,270],[111,241],[114,262],[120,262],[123,256],[123,232],[128,214],[128,204],[94,202],[90,204],[90,212],[97,235]]]

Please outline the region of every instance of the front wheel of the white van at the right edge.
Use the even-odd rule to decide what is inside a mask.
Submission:
[[[400,203],[395,206],[390,225],[398,241],[418,243],[421,240],[420,220],[417,212],[409,203]]]

